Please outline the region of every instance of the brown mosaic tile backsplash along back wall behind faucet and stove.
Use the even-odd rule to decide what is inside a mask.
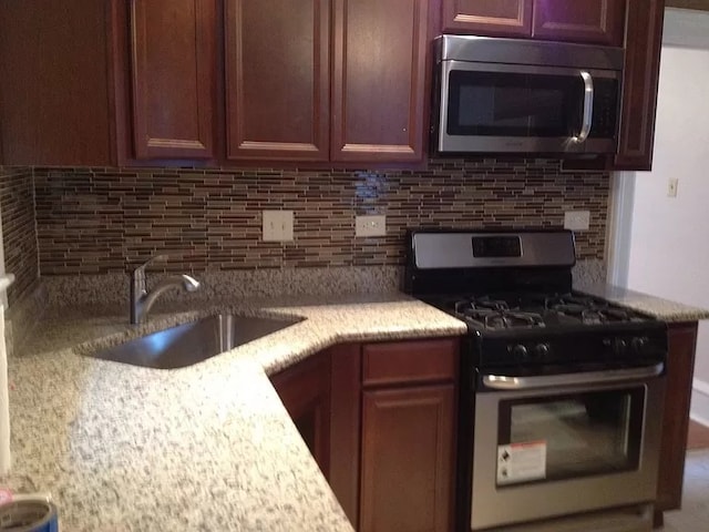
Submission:
[[[599,259],[609,175],[481,158],[376,172],[38,167],[34,184],[47,276],[126,272],[164,253],[165,270],[401,265],[407,228],[558,227],[569,209],[590,211],[577,255]],[[294,211],[294,242],[261,241],[264,209]],[[358,214],[386,215],[387,236],[356,238]]]

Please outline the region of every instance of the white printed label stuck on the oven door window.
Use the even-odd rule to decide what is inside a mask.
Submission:
[[[546,441],[497,446],[497,484],[546,478]]]

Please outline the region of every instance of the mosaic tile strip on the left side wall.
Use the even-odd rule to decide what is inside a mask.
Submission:
[[[8,289],[8,303],[12,307],[32,290],[39,278],[31,168],[0,166],[0,212],[4,269],[16,276],[14,284]]]

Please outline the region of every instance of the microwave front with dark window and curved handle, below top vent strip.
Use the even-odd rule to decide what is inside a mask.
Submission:
[[[444,61],[438,151],[614,153],[619,73]]]

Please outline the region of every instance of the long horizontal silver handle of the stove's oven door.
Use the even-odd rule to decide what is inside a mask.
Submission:
[[[483,385],[493,390],[530,390],[533,388],[554,388],[561,386],[605,385],[626,380],[645,380],[661,375],[665,364],[631,369],[612,369],[606,371],[586,371],[578,374],[547,375],[543,377],[506,377],[483,375]]]

